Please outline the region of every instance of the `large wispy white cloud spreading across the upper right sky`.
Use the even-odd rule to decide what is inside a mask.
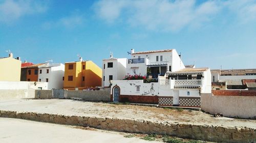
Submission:
[[[208,24],[218,14],[227,10],[243,22],[256,18],[256,1],[228,0],[100,0],[93,5],[96,15],[108,23],[123,21],[131,26],[141,26],[154,31],[180,31],[185,27]]]

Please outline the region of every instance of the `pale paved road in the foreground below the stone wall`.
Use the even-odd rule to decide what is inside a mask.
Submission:
[[[74,126],[0,118],[0,142],[149,142],[125,138],[119,132],[84,130]],[[157,141],[150,141],[151,143]]]

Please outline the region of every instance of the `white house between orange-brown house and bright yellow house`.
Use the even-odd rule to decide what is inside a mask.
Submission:
[[[46,64],[38,67],[38,81],[48,82],[48,89],[62,89],[65,65]]]

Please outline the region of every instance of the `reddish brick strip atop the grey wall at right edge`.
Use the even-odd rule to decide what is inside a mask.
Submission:
[[[255,91],[212,90],[211,93],[215,96],[256,96],[256,90]]]

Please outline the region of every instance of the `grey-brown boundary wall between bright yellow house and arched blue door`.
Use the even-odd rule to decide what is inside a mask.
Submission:
[[[99,91],[65,91],[65,98],[81,98],[86,101],[111,101],[110,89]]]

